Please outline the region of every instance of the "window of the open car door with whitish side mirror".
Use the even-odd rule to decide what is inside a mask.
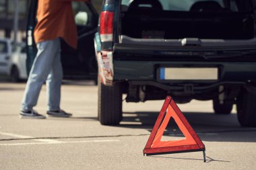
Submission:
[[[73,1],[72,7],[77,26],[92,26],[92,12],[88,9],[86,3]]]

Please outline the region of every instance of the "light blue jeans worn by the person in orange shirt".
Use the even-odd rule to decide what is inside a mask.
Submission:
[[[32,110],[46,81],[48,110],[59,110],[61,100],[61,44],[59,38],[36,44],[38,52],[26,85],[22,110]]]

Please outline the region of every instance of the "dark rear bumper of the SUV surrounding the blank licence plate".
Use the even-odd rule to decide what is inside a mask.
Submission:
[[[172,61],[141,61],[113,60],[114,81],[154,81],[158,83],[246,83],[256,81],[256,62],[172,62]],[[168,80],[159,79],[161,67],[216,67],[218,80]]]

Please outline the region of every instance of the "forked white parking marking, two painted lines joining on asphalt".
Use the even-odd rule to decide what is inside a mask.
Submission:
[[[0,146],[19,146],[19,145],[34,145],[34,144],[70,144],[70,143],[93,143],[93,142],[119,142],[120,140],[77,140],[77,141],[59,141],[52,139],[33,139],[32,136],[24,136],[20,134],[12,134],[6,132],[0,132],[1,135],[12,136],[15,138],[32,138],[39,142],[24,142],[24,143],[0,143]]]

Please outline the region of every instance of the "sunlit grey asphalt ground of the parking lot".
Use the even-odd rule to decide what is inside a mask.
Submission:
[[[0,82],[0,169],[255,169],[256,128],[241,128],[235,110],[214,115],[211,101],[179,105],[206,148],[203,154],[143,157],[164,101],[125,103],[119,126],[97,121],[97,87],[89,81],[65,81],[61,108],[72,118],[20,119],[24,83]],[[46,112],[42,87],[38,105]],[[173,123],[173,122],[172,122]],[[168,126],[163,140],[179,140]]]

